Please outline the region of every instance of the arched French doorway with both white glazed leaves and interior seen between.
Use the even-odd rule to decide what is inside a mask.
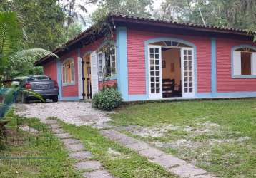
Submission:
[[[149,99],[195,97],[194,49],[176,41],[150,43]]]

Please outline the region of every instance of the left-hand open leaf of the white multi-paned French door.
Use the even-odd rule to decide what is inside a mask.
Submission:
[[[149,98],[162,98],[162,51],[161,46],[148,47]]]

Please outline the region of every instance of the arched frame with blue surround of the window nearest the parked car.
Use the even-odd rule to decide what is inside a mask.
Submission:
[[[70,68],[73,66],[73,73],[70,76],[71,81],[67,82],[67,68],[65,68],[65,63],[70,61]],[[67,86],[67,85],[74,85],[75,84],[75,67],[74,67],[74,59],[73,58],[67,58],[61,63],[61,79],[62,79],[62,85]]]

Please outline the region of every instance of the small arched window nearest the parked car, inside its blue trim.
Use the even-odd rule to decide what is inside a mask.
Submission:
[[[74,60],[69,59],[62,63],[62,83],[74,83]]]

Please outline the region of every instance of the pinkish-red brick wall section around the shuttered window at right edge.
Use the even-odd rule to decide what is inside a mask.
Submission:
[[[232,78],[231,49],[242,44],[256,46],[250,41],[217,38],[217,92],[256,91],[256,78]]]

